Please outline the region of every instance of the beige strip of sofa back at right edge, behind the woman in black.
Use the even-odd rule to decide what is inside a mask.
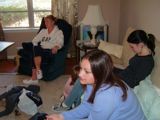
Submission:
[[[155,49],[155,66],[151,73],[151,80],[154,85],[160,88],[160,41],[156,41],[156,49]]]

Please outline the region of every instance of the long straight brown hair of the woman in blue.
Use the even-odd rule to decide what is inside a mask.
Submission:
[[[93,50],[85,54],[82,58],[90,62],[91,70],[95,79],[95,86],[88,99],[93,103],[95,94],[102,84],[108,84],[109,87],[118,86],[122,89],[122,100],[127,98],[127,86],[113,73],[113,62],[111,57],[102,50]]]

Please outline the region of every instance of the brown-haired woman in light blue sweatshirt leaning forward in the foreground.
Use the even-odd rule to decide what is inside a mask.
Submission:
[[[82,103],[47,120],[146,120],[133,91],[113,72],[111,57],[88,52],[80,64],[80,82],[86,85]]]

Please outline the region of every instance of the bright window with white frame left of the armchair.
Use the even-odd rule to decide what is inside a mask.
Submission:
[[[51,14],[51,0],[0,0],[0,19],[4,28],[33,28]]]

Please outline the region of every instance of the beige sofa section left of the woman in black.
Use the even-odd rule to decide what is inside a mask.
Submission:
[[[133,57],[135,54],[130,49],[127,42],[127,38],[132,31],[134,31],[134,29],[131,27],[127,29],[122,45],[100,41],[100,45],[98,48],[111,54],[112,60],[115,66],[118,68],[121,68],[121,69],[126,68],[128,66],[129,59]],[[123,46],[123,47],[120,47],[120,46]]]

